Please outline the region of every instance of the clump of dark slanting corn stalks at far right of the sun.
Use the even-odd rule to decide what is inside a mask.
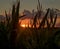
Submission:
[[[50,13],[50,23],[48,20],[48,14]],[[47,28],[53,28],[56,24],[57,20],[57,14],[54,16],[54,11],[51,10],[50,8],[47,9],[47,13],[45,14],[44,18],[42,19],[39,28],[44,28],[44,26],[47,24]],[[54,19],[54,20],[53,20]],[[46,24],[45,24],[46,23]]]

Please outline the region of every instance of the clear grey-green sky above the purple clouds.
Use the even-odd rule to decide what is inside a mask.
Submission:
[[[20,12],[24,9],[32,11],[32,9],[37,8],[38,0],[21,0]],[[0,0],[0,15],[4,14],[4,11],[7,12],[11,9],[13,3],[16,0]],[[60,9],[60,0],[40,0],[43,9],[46,8],[57,8]]]

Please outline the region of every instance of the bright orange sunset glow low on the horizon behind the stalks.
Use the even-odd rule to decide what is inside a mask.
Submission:
[[[42,19],[40,19],[40,20],[42,20]],[[31,28],[30,19],[22,19],[19,21],[19,23],[20,23],[20,26],[23,28],[27,28],[27,27]],[[38,27],[39,27],[39,25],[37,24],[37,28]],[[57,18],[55,27],[60,27],[60,17]],[[33,28],[34,28],[34,26],[33,26]]]

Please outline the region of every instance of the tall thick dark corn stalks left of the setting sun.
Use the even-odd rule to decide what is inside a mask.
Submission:
[[[17,32],[19,32],[19,19],[25,16],[25,15],[19,16],[19,8],[20,8],[20,1],[17,2],[17,5],[13,4],[11,22],[10,18],[8,18],[7,12],[5,11],[7,27],[9,28],[7,32],[10,32],[11,47],[16,47],[16,36]]]

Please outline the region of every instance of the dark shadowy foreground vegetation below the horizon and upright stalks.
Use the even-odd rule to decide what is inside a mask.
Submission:
[[[60,49],[60,28],[20,28],[15,46],[11,44],[10,34],[0,29],[0,49]]]

